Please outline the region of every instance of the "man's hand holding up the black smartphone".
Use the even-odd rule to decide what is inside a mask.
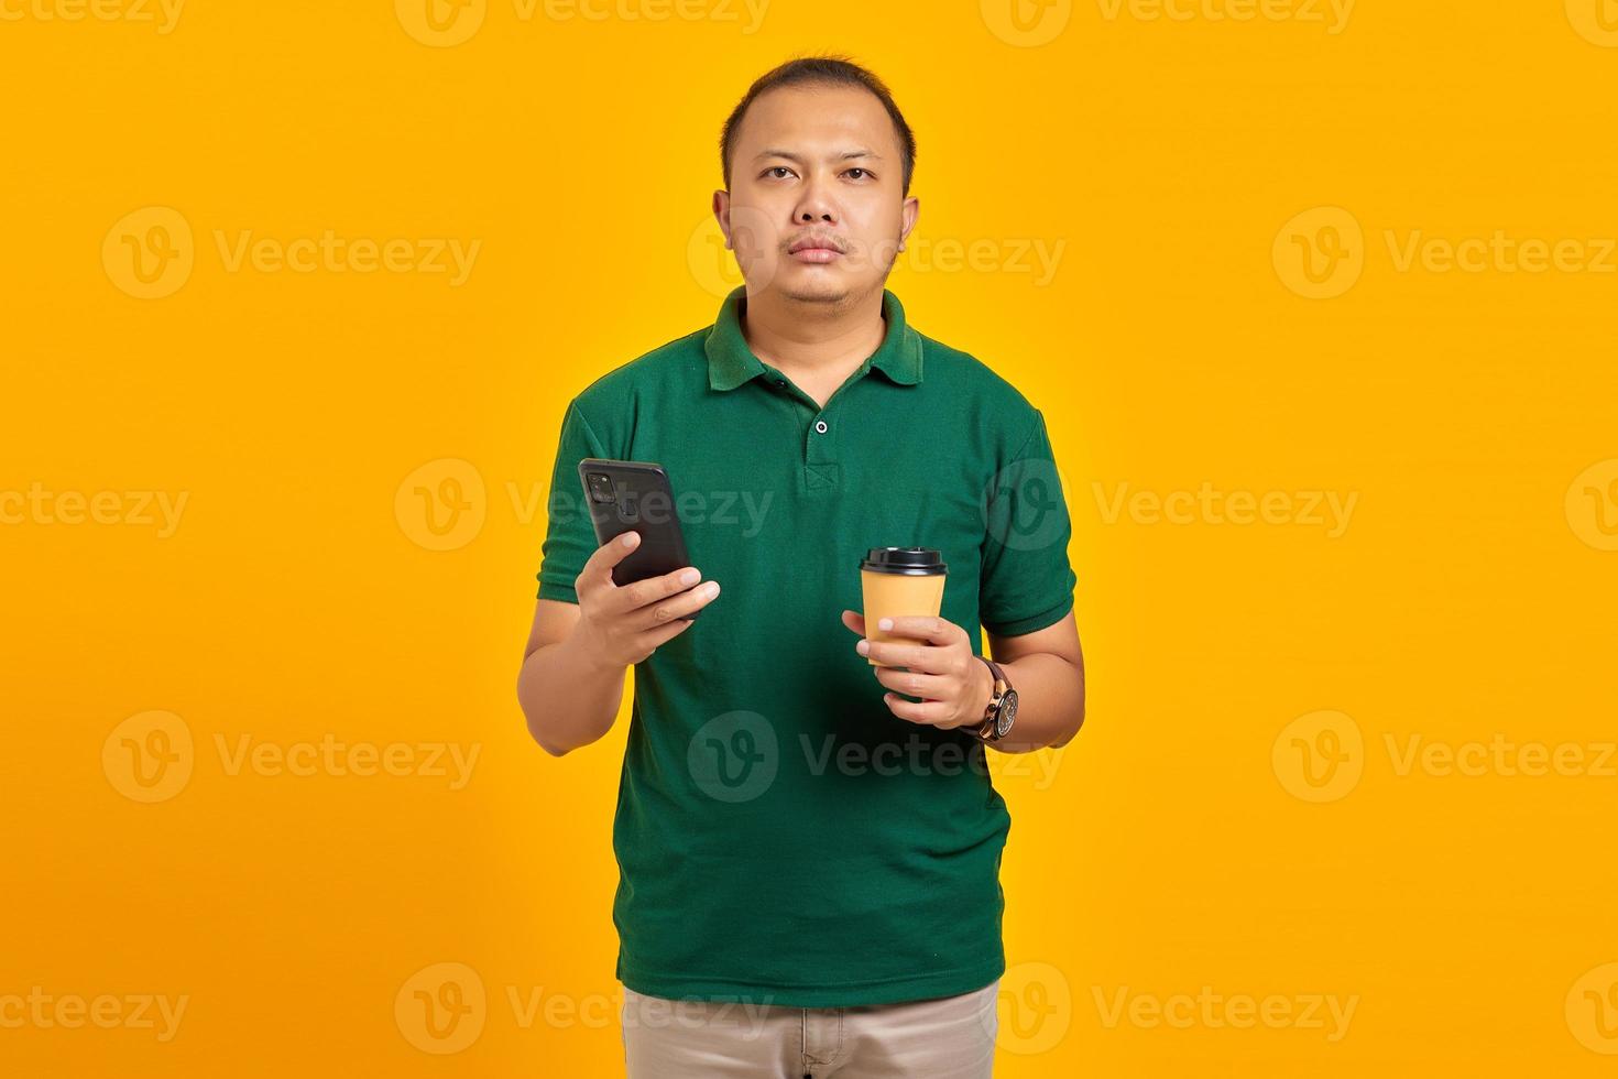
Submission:
[[[657,645],[689,629],[691,623],[684,616],[707,607],[718,595],[718,581],[693,587],[702,574],[691,566],[631,584],[613,582],[612,568],[639,545],[639,532],[607,540],[595,548],[574,581],[579,595],[578,629],[591,657],[602,666],[639,663]]]

